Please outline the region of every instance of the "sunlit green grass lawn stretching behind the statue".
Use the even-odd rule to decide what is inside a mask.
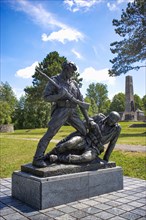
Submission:
[[[119,144],[146,146],[146,129],[131,128],[131,122],[121,122],[122,132]],[[38,140],[47,129],[16,130],[14,133],[1,133],[1,177],[10,177],[14,170],[20,170],[22,164],[30,163],[36,150]],[[61,140],[74,131],[71,126],[63,126],[54,140]],[[55,146],[50,143],[47,151]],[[101,155],[102,158],[102,155]],[[145,154],[114,151],[110,160],[122,166],[124,175],[146,179]]]

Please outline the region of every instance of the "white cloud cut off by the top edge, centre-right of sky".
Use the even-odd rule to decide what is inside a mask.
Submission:
[[[93,5],[102,2],[103,0],[64,0],[67,9],[76,12],[79,10],[88,11]]]

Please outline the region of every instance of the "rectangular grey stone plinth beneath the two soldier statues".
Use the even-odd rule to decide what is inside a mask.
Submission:
[[[46,209],[123,189],[121,167],[40,178],[15,171],[12,196],[37,209]]]

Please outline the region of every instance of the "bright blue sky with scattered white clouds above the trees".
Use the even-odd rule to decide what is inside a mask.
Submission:
[[[90,83],[104,83],[108,97],[125,92],[125,76],[133,76],[134,93],[146,93],[146,70],[109,77],[110,43],[118,40],[112,20],[128,0],[1,0],[1,81],[19,98],[32,85],[35,66],[57,51],[78,67],[85,96]]]

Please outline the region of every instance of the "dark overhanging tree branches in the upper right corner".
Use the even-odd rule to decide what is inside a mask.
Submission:
[[[111,52],[117,54],[110,60],[112,68],[110,76],[118,76],[122,73],[135,69],[138,70],[145,65],[137,62],[144,62],[146,59],[146,19],[145,1],[135,0],[128,3],[126,10],[122,10],[120,20],[113,20],[116,27],[115,32],[123,38],[119,42],[111,43]],[[135,63],[135,65],[134,65]]]

